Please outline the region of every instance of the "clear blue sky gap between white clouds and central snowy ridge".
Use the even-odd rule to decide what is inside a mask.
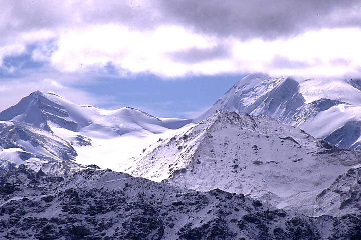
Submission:
[[[163,117],[194,117],[211,106],[242,75],[166,79],[142,74],[132,78],[98,78],[82,89],[112,100],[105,108],[132,106]]]

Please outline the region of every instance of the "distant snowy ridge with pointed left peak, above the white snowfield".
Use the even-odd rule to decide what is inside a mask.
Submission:
[[[164,131],[163,128],[177,129],[191,123],[187,119],[160,119],[131,107],[104,110],[79,106],[54,93],[40,91],[0,112],[0,120],[22,122],[48,131],[63,128],[81,133],[105,132],[107,135],[110,132],[123,135],[134,131],[158,133]]]

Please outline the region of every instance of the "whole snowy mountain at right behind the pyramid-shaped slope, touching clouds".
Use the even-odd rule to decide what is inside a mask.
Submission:
[[[250,74],[242,78],[196,121],[216,110],[268,115],[300,127],[343,149],[361,144],[361,87],[355,79],[330,81]]]

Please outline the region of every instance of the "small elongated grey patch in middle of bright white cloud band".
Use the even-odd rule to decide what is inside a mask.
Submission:
[[[175,62],[198,63],[207,60],[224,59],[232,54],[227,45],[218,45],[209,49],[190,48],[187,50],[176,51],[169,54],[169,57]]]

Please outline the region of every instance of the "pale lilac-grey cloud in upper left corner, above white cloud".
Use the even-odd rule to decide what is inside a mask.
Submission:
[[[161,24],[154,9],[126,1],[0,0],[0,43],[19,32],[68,29],[91,24],[118,23],[130,29]]]

